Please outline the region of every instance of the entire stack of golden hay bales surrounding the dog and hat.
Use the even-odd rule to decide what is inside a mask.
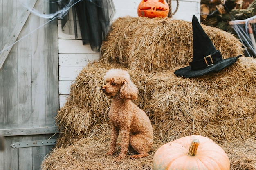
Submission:
[[[242,54],[242,45],[233,35],[203,28],[223,58]],[[240,57],[234,65],[198,78],[175,76],[176,69],[189,65],[192,42],[190,22],[144,17],[113,22],[100,61],[79,73],[56,116],[63,133],[42,169],[151,170],[157,148],[186,135],[213,139],[229,155],[231,170],[255,169],[256,59]],[[133,160],[127,155],[117,161],[106,155],[111,100],[101,87],[110,68],[127,70],[139,88],[134,102],[146,111],[154,129],[147,158]]]

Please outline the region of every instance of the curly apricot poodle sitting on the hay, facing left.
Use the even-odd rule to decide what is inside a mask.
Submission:
[[[110,148],[107,155],[114,155],[117,138],[121,134],[121,152],[117,159],[126,156],[132,147],[137,155],[130,158],[147,157],[153,145],[153,128],[146,113],[131,100],[138,97],[138,88],[132,83],[128,72],[122,69],[110,69],[104,76],[106,85],[102,91],[112,103],[109,118],[112,125]]]

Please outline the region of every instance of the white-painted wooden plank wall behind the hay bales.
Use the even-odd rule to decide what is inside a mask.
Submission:
[[[118,17],[137,17],[137,7],[141,0],[113,0],[116,8],[114,19]],[[177,6],[176,0],[172,1],[172,11]],[[179,0],[177,13],[173,19],[191,21],[192,15],[200,18],[200,0]],[[72,19],[72,18],[70,18]],[[65,105],[65,100],[70,94],[70,85],[74,82],[79,72],[89,61],[99,59],[99,53],[90,49],[90,45],[83,45],[82,40],[77,40],[69,34],[68,26],[61,29],[58,25],[59,43],[59,103],[60,107]]]

